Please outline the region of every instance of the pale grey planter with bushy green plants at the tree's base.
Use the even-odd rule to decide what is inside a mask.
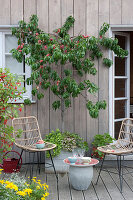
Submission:
[[[72,150],[74,148],[81,148],[86,152],[89,149],[88,143],[85,142],[83,138],[69,131],[62,133],[59,129],[56,129],[56,131],[51,131],[51,133],[45,135],[44,140],[57,145],[57,147],[53,149],[52,156],[54,157],[55,168],[59,172],[68,171],[68,166],[63,163],[63,160],[72,156]],[[48,152],[46,153],[46,157],[49,158]]]

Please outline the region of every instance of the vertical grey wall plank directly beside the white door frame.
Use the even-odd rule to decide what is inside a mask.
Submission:
[[[104,22],[109,23],[109,0],[99,0],[99,29]],[[108,35],[108,34],[107,34]],[[108,52],[104,52],[103,56],[108,56]],[[102,66],[102,61],[99,61],[98,69],[99,77],[99,100],[106,100],[107,108],[106,110],[101,110],[99,112],[99,133],[108,132],[108,80],[109,80],[109,69]],[[105,87],[106,86],[106,87]]]

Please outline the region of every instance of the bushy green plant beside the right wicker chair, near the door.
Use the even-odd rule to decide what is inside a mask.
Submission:
[[[106,146],[107,144],[112,143],[115,140],[115,138],[112,138],[109,133],[104,134],[97,134],[94,136],[94,140],[92,142],[92,156],[96,158],[103,159],[104,153],[97,150],[97,147],[100,146]]]

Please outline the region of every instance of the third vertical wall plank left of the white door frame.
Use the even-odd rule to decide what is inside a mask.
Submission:
[[[86,34],[86,0],[74,0],[74,36],[78,34]],[[78,82],[85,78],[85,75],[81,78],[77,78],[77,72],[74,72],[74,77]],[[86,94],[83,93],[85,96]],[[86,139],[86,102],[83,96],[79,96],[75,99],[74,105],[74,131],[79,133],[83,138]]]

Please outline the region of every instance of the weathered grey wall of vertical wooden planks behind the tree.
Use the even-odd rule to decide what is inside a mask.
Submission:
[[[103,22],[133,24],[132,10],[133,0],[0,0],[0,25],[17,24],[22,19],[28,21],[32,14],[37,14],[40,28],[52,32],[72,15],[76,21],[71,35],[82,33],[97,36]],[[105,99],[108,103],[108,69],[101,62],[95,64],[97,76],[89,78],[97,83],[100,90],[97,96],[87,94],[87,98],[94,102]],[[55,112],[51,107],[53,98],[47,92],[43,100],[30,107],[25,106],[22,113],[23,116],[37,116],[42,135],[61,128],[61,112]],[[65,129],[79,133],[90,143],[95,134],[108,131],[108,113],[107,106],[105,111],[100,111],[98,119],[90,118],[81,96],[65,113]]]

